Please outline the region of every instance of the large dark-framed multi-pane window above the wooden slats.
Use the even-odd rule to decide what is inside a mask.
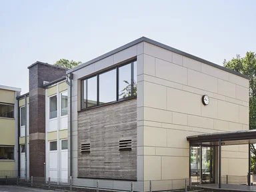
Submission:
[[[137,96],[137,61],[81,81],[81,109]]]

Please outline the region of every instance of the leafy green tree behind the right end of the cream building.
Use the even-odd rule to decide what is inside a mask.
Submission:
[[[224,67],[248,75],[249,80],[249,129],[256,129],[256,54],[247,52],[245,57],[224,60]],[[256,149],[255,145],[251,145],[251,171],[256,173]]]

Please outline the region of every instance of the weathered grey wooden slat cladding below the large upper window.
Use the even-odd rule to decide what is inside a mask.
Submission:
[[[131,140],[131,150],[119,151]],[[90,143],[90,152],[81,153]],[[137,100],[81,111],[78,115],[78,176],[137,179]]]

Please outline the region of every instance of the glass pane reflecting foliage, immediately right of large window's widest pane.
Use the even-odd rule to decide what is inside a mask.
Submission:
[[[119,99],[131,96],[131,63],[119,67]]]

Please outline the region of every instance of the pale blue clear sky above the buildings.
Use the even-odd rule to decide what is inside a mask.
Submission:
[[[223,65],[256,52],[256,1],[0,0],[0,85],[29,91],[35,61],[85,63],[145,36]]]

